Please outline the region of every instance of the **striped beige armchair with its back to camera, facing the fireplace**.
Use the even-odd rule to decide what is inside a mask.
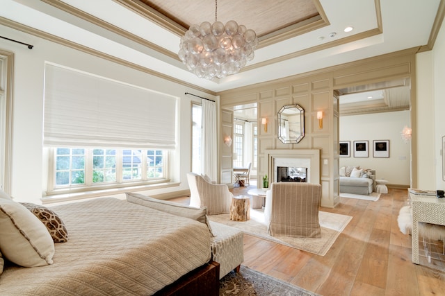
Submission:
[[[266,192],[264,220],[271,236],[321,237],[318,208],[321,185],[305,182],[272,183]]]

